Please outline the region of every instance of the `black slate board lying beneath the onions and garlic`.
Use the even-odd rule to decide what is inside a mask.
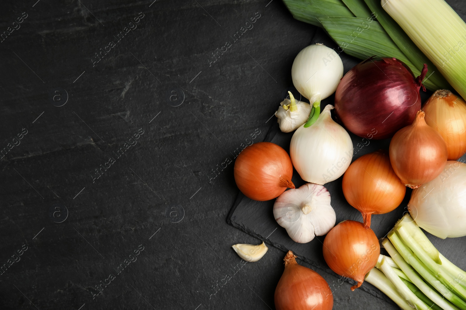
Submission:
[[[311,44],[314,43],[324,43],[326,46],[329,46],[331,48],[336,47],[335,43],[332,42],[328,36],[326,36],[323,32],[319,31],[316,33]],[[343,60],[344,73],[347,73],[349,69],[351,69],[359,62],[358,59],[350,57],[346,54],[340,54],[340,57]],[[294,93],[299,94],[297,91],[294,91]],[[424,102],[431,94],[432,92],[421,91],[422,101]],[[321,111],[328,104],[333,104],[334,99],[334,95],[332,95],[329,98],[322,100]],[[333,119],[335,119],[334,110],[332,110],[332,117]],[[293,133],[294,132],[281,132],[278,123],[276,122],[276,118],[273,118],[272,124],[270,125],[269,131],[267,132],[264,141],[280,145],[289,154],[289,145]],[[355,148],[355,153],[353,154],[352,161],[356,160],[364,154],[375,152],[379,149],[388,150],[388,147],[390,145],[390,139],[363,140],[363,138],[358,137],[351,132],[349,132],[349,135],[353,142],[353,147]],[[464,156],[463,158],[465,157],[466,156]],[[348,219],[362,222],[363,218],[361,216],[361,213],[357,211],[355,208],[353,208],[351,205],[349,205],[346,199],[344,198],[342,190],[342,179],[343,176],[336,179],[335,181],[329,182],[324,185],[330,192],[331,205],[336,213],[336,223],[340,223],[341,221]],[[300,178],[296,170],[293,171],[292,181],[295,184],[296,188],[306,183],[302,180],[302,178]],[[391,211],[383,215],[372,216],[370,226],[372,230],[376,233],[378,238],[381,239],[385,237],[387,233],[391,230],[393,225],[396,223],[396,221],[403,216],[404,212],[407,212],[406,206],[411,197],[411,191],[411,189],[407,188],[403,202],[394,211]],[[236,198],[236,201],[233,204],[233,207],[230,210],[230,213],[228,214],[227,222],[228,224],[231,224],[234,227],[242,231],[245,231],[254,237],[257,237],[260,240],[263,240],[282,251],[293,251],[298,258],[307,262],[319,272],[329,273],[330,275],[333,275],[335,277],[335,280],[339,279],[340,277],[329,269],[329,267],[325,263],[325,260],[323,259],[322,244],[325,236],[315,237],[314,240],[306,244],[299,244],[294,242],[288,236],[286,230],[282,228],[280,225],[278,225],[275,221],[273,214],[274,202],[275,199],[269,201],[254,201],[252,199],[247,198],[240,192],[238,194],[238,197]],[[452,257],[465,256],[465,237],[442,240],[442,244],[439,244],[438,240],[441,239],[431,236],[430,234],[427,235],[431,238],[431,240],[433,240],[432,242],[434,244],[437,243],[436,245],[438,245],[439,249],[442,249],[442,247],[444,248],[445,251],[441,252],[443,252],[445,256],[449,257],[449,259],[452,259]],[[460,246],[455,246],[455,244]],[[444,246],[447,246],[449,251],[446,250]],[[461,266],[461,264],[459,266]],[[351,279],[349,279],[349,282],[356,283]],[[369,292],[370,294],[378,298],[382,298],[385,301],[389,301],[388,297],[386,297],[383,293],[381,293],[374,286],[368,283],[363,284],[363,286],[361,286],[360,289]]]

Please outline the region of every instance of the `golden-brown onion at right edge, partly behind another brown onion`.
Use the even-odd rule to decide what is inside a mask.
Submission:
[[[457,160],[466,152],[466,102],[441,89],[425,102],[425,122],[445,140],[448,160]]]

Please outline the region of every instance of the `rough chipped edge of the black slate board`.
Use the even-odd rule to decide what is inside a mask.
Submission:
[[[272,123],[270,125],[268,131],[267,131],[267,134],[266,134],[263,142],[268,142],[268,141],[272,140],[274,138],[274,136],[275,136],[275,133],[276,133],[276,131],[274,130],[274,124]],[[269,239],[261,236],[260,234],[257,234],[254,231],[251,231],[251,230],[247,229],[245,226],[233,221],[233,219],[232,219],[233,213],[236,210],[236,207],[241,203],[241,201],[243,200],[244,197],[245,197],[244,194],[241,191],[238,191],[238,196],[236,196],[236,199],[235,199],[235,201],[233,203],[233,206],[230,209],[230,212],[228,213],[228,216],[226,218],[226,223],[232,225],[233,227],[239,229],[240,231],[246,232],[248,235],[256,237],[256,238],[266,242],[267,244],[272,245],[273,247],[275,247],[275,248],[277,248],[277,249],[279,249],[281,251],[284,251],[285,253],[288,252],[289,249],[282,246],[281,244],[274,243],[274,242],[270,241]],[[306,263],[310,264],[314,269],[321,270],[321,271],[325,272],[326,274],[329,274],[329,275],[331,275],[333,277],[338,277],[336,275],[336,273],[333,273],[333,272],[330,273],[329,270],[325,270],[321,266],[318,266],[318,265],[314,264],[313,261],[309,260],[306,257],[302,257],[300,255],[296,255],[296,257],[301,259],[302,261],[305,261]],[[347,279],[347,280],[344,280],[344,281],[348,282],[348,283],[350,283],[352,285],[356,284],[356,281],[354,281],[352,279],[349,279],[349,280]],[[368,287],[368,286],[370,286],[370,287]],[[371,294],[371,295],[373,295],[373,296],[375,296],[375,297],[377,297],[379,299],[383,299],[385,302],[393,303],[393,301],[390,298],[388,298],[384,293],[382,293],[380,290],[375,288],[372,284],[369,284],[369,283],[365,282],[361,287],[358,288],[358,290],[366,291],[369,294]]]

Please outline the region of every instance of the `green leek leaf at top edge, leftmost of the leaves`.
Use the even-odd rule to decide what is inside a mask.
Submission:
[[[317,20],[318,17],[354,17],[342,0],[283,0],[283,2],[295,19],[319,27],[322,25]]]

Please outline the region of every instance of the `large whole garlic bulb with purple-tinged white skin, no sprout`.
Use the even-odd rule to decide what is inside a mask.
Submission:
[[[275,200],[274,217],[298,243],[307,243],[315,236],[325,235],[336,221],[329,191],[312,183],[281,194]]]

